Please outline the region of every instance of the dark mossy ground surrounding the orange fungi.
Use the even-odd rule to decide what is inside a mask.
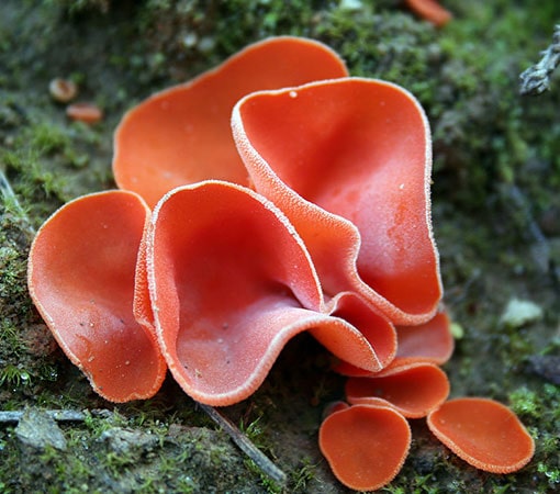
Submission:
[[[66,450],[30,449],[14,424],[0,425],[1,492],[278,491],[175,383],[145,403],[115,406],[94,395],[57,350],[25,280],[32,232],[48,214],[113,187],[112,132],[126,109],[275,34],[322,40],[354,75],[397,82],[421,99],[434,134],[446,303],[463,329],[446,366],[452,394],[511,405],[537,444],[520,472],[491,475],[450,454],[418,420],[411,457],[385,491],[560,489],[558,368],[534,364],[560,352],[560,80],[538,98],[518,96],[518,74],[550,42],[560,3],[448,0],[455,20],[443,30],[402,3],[2,2],[0,167],[15,200],[3,198],[0,210],[0,408],[102,412],[60,425]],[[105,119],[68,122],[48,94],[54,77],[74,79]],[[512,299],[535,302],[542,317],[505,324]],[[322,405],[341,395],[325,358],[311,338],[296,338],[254,397],[224,411],[289,473],[289,492],[345,492],[316,447]],[[111,440],[123,430],[136,438],[124,450]]]

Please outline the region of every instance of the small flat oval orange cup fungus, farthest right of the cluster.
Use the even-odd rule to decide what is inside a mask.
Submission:
[[[486,472],[515,472],[535,451],[533,438],[517,416],[493,400],[450,400],[428,415],[427,424],[459,458]]]

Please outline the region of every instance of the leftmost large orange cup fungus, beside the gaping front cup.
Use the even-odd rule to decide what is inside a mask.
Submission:
[[[132,192],[85,195],[43,224],[30,251],[33,302],[60,348],[112,402],[153,396],[166,374],[155,334],[133,314],[148,217]]]

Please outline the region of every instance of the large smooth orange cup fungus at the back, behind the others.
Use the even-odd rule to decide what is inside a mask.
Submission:
[[[291,36],[255,43],[131,110],[115,133],[115,181],[150,206],[175,187],[200,180],[248,186],[229,126],[237,100],[261,89],[347,75],[344,61],[322,43]]]

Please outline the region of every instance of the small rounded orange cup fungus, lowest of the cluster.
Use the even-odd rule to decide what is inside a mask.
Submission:
[[[385,406],[337,406],[321,425],[318,445],[335,476],[357,491],[374,491],[400,472],[411,446],[411,428]]]

